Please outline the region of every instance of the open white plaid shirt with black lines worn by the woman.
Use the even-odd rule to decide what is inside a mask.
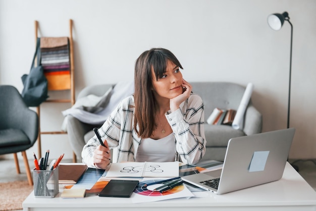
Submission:
[[[101,126],[101,139],[109,147],[118,147],[117,161],[135,161],[137,149],[142,141],[133,129],[134,97],[125,98]],[[191,93],[174,112],[166,113],[176,145],[176,161],[187,164],[198,162],[205,153],[204,104],[202,99]],[[94,166],[93,151],[100,145],[96,136],[91,138],[82,150],[82,161]]]

